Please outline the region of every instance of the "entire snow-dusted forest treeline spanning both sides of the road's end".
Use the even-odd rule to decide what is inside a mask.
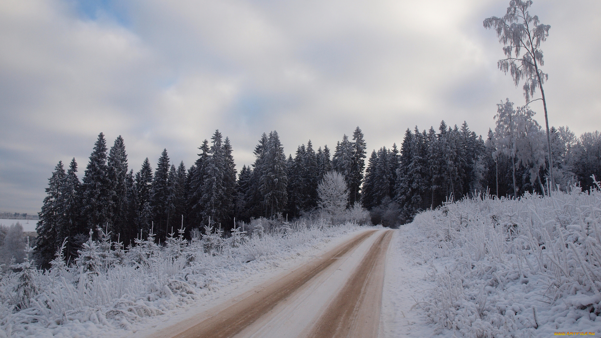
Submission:
[[[153,170],[148,158],[141,169],[129,169],[123,138],[109,150],[98,137],[80,181],[73,159],[56,165],[37,225],[37,262],[47,264],[65,238],[66,257],[101,227],[113,240],[131,244],[150,231],[158,242],[178,229],[211,225],[225,233],[236,221],[265,217],[281,220],[311,217],[319,203],[317,186],[329,171],[340,173],[347,186],[347,206],[370,210],[371,222],[406,223],[421,210],[472,193],[519,196],[545,194],[548,159],[545,133],[527,109],[499,105],[495,131],[486,140],[463,123],[441,122],[438,132],[407,129],[400,149],[394,144],[374,150],[365,168],[366,143],[361,129],[344,135],[331,154],[328,146],[314,150],[311,141],[285,156],[278,133],[263,134],[255,162],[236,171],[230,140],[219,131],[204,140],[194,165],[171,163],[166,150]],[[577,138],[567,128],[552,128],[556,184],[561,189],[592,185],[601,177],[601,135]],[[542,150],[541,150],[542,149]]]

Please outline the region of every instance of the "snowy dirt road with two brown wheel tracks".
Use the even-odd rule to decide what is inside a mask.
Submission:
[[[154,337],[377,337],[391,238],[391,230],[361,232]]]

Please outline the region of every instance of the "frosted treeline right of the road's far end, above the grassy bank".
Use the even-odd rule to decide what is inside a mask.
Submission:
[[[495,131],[486,140],[463,123],[441,122],[438,132],[407,129],[401,150],[371,153],[362,186],[362,204],[375,223],[407,223],[420,211],[445,201],[488,193],[519,197],[525,192],[548,194],[549,161],[546,133],[532,119],[534,112],[513,103],[499,105]],[[588,190],[591,175],[601,177],[601,134],[579,138],[569,128],[551,128],[555,189]]]

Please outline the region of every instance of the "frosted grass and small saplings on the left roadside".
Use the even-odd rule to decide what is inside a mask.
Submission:
[[[206,229],[191,242],[172,235],[159,247],[150,238],[127,251],[90,240],[73,266],[56,259],[48,271],[23,269],[25,263],[14,266],[15,272],[4,269],[0,337],[125,334],[142,318],[203,301],[220,287],[357,229],[351,223],[285,223],[252,236],[235,229],[228,239]]]

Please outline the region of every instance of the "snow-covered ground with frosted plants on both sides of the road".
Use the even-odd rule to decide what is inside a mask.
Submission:
[[[282,226],[227,240],[209,232],[191,244],[173,238],[159,250],[139,241],[108,256],[106,244],[90,242],[96,247],[76,268],[4,272],[0,337],[152,336],[362,230]],[[395,230],[380,337],[601,334],[600,290],[600,191],[459,201]]]

